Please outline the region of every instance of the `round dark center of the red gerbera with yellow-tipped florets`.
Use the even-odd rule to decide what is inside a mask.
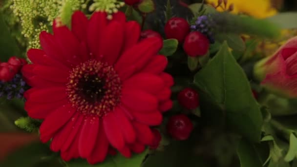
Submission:
[[[69,74],[66,93],[80,113],[104,116],[121,100],[121,80],[111,65],[89,60]]]

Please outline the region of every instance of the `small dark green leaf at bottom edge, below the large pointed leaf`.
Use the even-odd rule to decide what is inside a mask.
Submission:
[[[256,146],[245,140],[241,140],[237,148],[240,167],[262,167],[268,150],[263,145]]]

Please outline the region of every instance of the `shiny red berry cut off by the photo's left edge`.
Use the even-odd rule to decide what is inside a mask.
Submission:
[[[7,82],[17,74],[18,67],[9,63],[0,63],[0,81]]]

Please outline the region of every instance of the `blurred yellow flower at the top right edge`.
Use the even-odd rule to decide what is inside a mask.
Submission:
[[[207,0],[207,2],[218,4],[218,0]],[[227,9],[231,4],[233,4],[233,14],[246,14],[263,19],[274,16],[277,13],[277,10],[272,7],[271,0],[228,0]],[[217,10],[224,11],[224,3]]]

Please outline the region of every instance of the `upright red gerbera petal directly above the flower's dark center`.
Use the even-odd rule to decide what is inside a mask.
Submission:
[[[94,12],[87,27],[87,45],[92,55],[98,55],[99,37],[102,37],[107,20],[105,12]]]

